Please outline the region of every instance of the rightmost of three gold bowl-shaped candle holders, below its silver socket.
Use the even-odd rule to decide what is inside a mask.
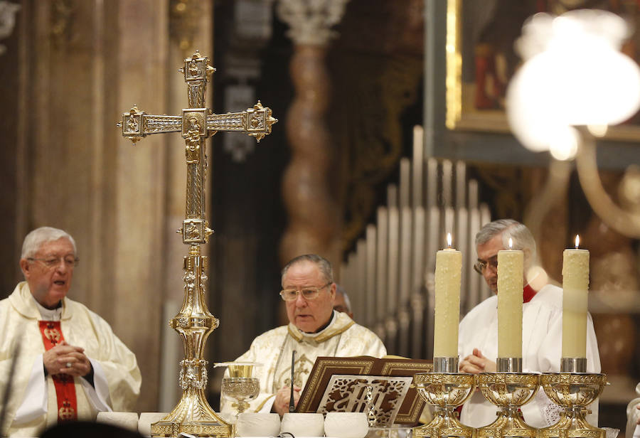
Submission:
[[[540,385],[551,401],[564,408],[559,422],[540,429],[540,438],[604,438],[604,429],[593,427],[585,415],[587,405],[596,400],[607,385],[607,375],[547,373],[540,375]]]

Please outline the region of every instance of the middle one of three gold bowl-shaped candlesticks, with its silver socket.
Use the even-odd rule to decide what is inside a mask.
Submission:
[[[498,358],[497,373],[477,375],[482,395],[498,406],[496,421],[477,429],[478,438],[536,438],[538,429],[524,421],[519,407],[529,402],[539,387],[539,375],[522,373],[521,358]]]

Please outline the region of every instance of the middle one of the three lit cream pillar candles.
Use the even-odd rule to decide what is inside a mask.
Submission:
[[[498,358],[522,358],[523,263],[522,251],[498,251]]]

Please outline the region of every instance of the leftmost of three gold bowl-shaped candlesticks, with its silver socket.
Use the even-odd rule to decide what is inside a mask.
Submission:
[[[414,427],[414,437],[465,437],[473,436],[474,429],[459,422],[455,411],[473,394],[475,376],[457,373],[458,358],[434,358],[433,373],[417,373],[413,383],[422,400],[435,407],[433,420],[424,426]]]

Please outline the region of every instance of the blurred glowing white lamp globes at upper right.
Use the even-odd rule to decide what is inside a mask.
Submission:
[[[529,18],[516,41],[526,62],[506,95],[516,138],[533,151],[553,148],[553,156],[570,159],[578,141],[572,126],[606,127],[634,115],[640,68],[619,51],[628,35],[626,22],[607,11]]]

